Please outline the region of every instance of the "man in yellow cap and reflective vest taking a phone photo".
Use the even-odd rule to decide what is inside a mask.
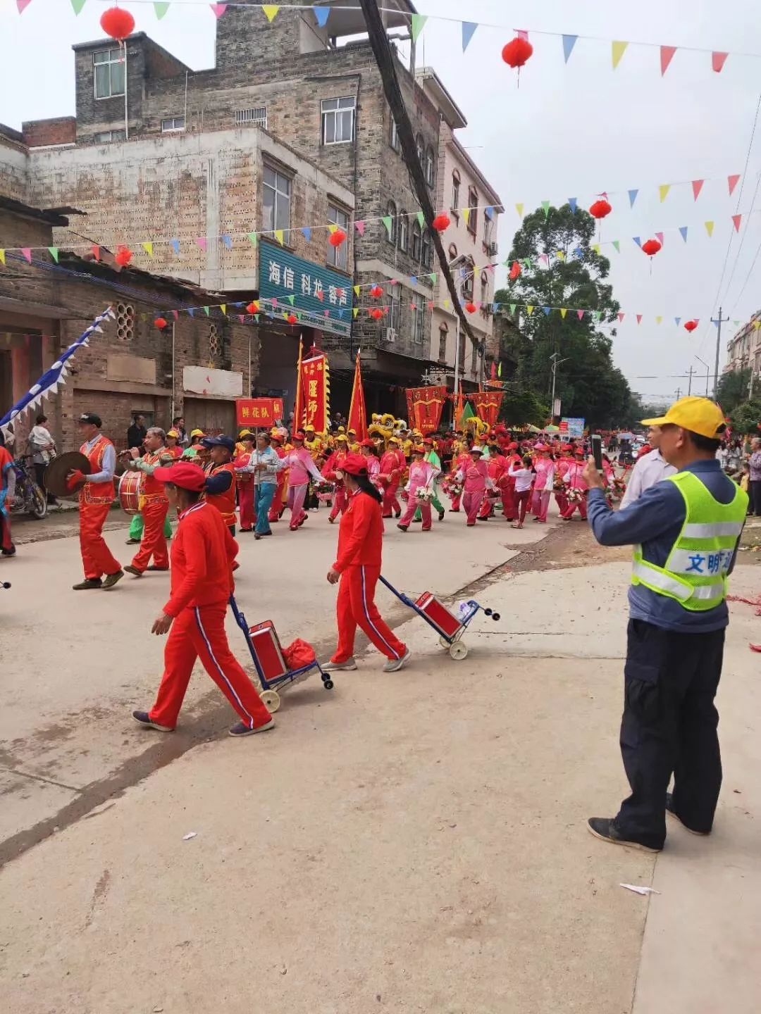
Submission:
[[[695,835],[713,823],[721,786],[713,699],[729,623],[727,579],[748,495],[716,460],[725,424],[713,402],[683,397],[643,424],[661,427],[673,476],[614,513],[594,458],[584,469],[595,537],[634,547],[621,721],[631,795],[615,817],[592,817],[587,826],[606,842],[660,852],[667,812]]]

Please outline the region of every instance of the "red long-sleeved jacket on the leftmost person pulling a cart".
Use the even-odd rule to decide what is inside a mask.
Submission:
[[[226,602],[232,593],[232,561],[237,542],[222,515],[204,500],[180,515],[171,542],[169,617],[196,605]]]

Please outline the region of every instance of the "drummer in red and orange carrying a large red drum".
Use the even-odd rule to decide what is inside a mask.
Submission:
[[[164,431],[158,426],[151,426],[143,441],[145,454],[141,455],[137,447],[131,447],[123,452],[127,456],[128,470],[119,483],[119,499],[125,510],[132,513],[139,510],[145,524],[140,549],[132,563],[124,568],[135,577],[142,577],[146,570],[169,569],[169,554],[164,534],[169,501],[163,483],[159,483],[153,476],[156,468],[166,463],[165,442]],[[152,564],[151,558],[153,558]]]

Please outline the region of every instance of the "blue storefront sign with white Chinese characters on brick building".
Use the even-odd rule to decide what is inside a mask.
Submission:
[[[296,313],[313,328],[348,338],[351,332],[351,280],[324,265],[302,261],[290,250],[261,240],[259,298],[277,299],[278,308]],[[289,297],[293,297],[293,301]],[[262,307],[269,311],[269,306]],[[277,310],[274,311],[277,315]]]

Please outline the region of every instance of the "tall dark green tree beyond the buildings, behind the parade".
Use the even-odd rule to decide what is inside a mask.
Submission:
[[[521,314],[520,337],[510,350],[517,360],[515,379],[549,403],[552,357],[558,362],[555,396],[564,416],[583,416],[593,427],[630,425],[631,390],[613,365],[613,324],[619,304],[605,280],[610,262],[595,249],[596,223],[569,205],[527,215],[515,233],[509,263],[521,275],[500,289],[494,301]],[[577,312],[583,309],[581,316]],[[562,312],[565,311],[565,312]]]

